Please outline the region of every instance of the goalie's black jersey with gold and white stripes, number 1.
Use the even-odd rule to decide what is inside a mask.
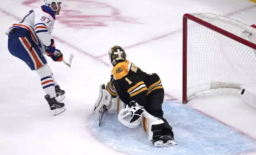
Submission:
[[[134,100],[141,106],[145,106],[147,96],[164,93],[157,74],[147,74],[128,60],[114,66],[107,90],[113,97],[118,95],[125,104]]]

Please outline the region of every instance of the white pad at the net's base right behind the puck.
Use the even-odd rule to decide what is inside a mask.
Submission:
[[[241,85],[241,100],[256,108],[256,84]]]

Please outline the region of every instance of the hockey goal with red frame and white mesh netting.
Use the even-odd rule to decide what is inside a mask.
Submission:
[[[256,28],[244,23],[211,13],[184,14],[183,104],[212,90],[229,94],[256,83],[254,43]]]

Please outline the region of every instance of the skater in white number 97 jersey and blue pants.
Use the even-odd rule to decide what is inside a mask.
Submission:
[[[54,61],[62,61],[63,55],[55,48],[51,32],[55,23],[55,15],[59,15],[62,0],[45,0],[45,5],[31,9],[23,19],[12,25],[8,35],[8,49],[10,53],[23,60],[31,70],[35,70],[41,78],[41,85],[53,115],[66,110],[60,101],[65,97],[54,78],[50,66],[43,55]]]

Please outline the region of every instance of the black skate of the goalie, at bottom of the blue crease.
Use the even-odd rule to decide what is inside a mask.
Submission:
[[[153,137],[152,142],[153,142],[154,146],[156,146],[156,147],[177,145],[171,134],[166,134],[166,135],[163,135],[160,137]]]

